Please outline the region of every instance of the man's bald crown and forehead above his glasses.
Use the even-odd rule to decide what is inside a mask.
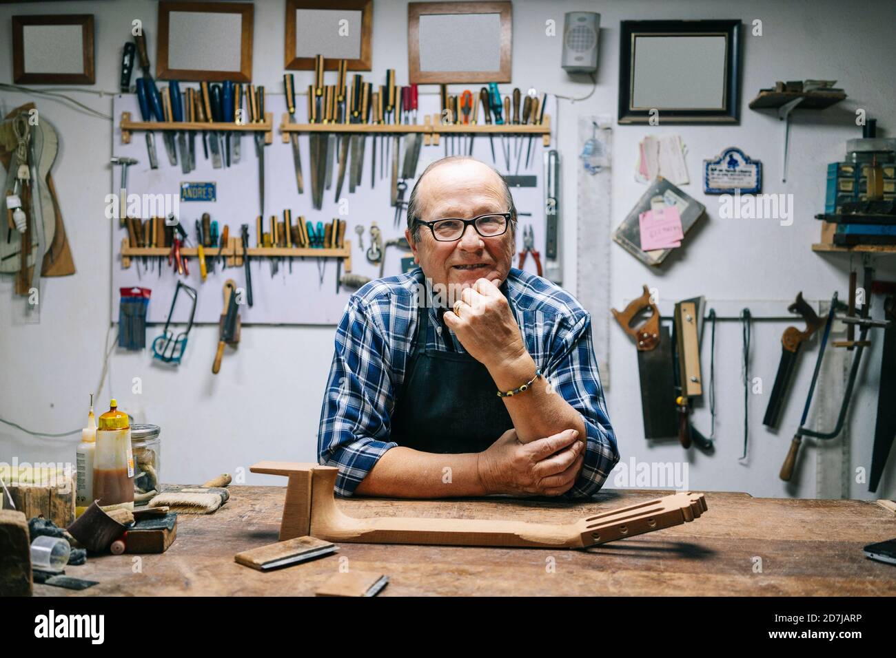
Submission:
[[[408,229],[414,242],[419,240],[417,220],[433,221],[434,213],[440,217],[456,217],[452,209],[464,205],[461,200],[477,196],[503,201],[506,211],[513,215],[513,233],[516,226],[513,196],[504,177],[494,167],[470,156],[450,156],[430,164],[417,179],[408,200]]]

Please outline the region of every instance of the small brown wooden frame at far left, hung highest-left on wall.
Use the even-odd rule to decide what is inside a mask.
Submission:
[[[94,84],[93,14],[13,16],[13,82]]]

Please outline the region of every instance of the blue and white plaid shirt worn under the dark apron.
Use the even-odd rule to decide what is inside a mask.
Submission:
[[[582,414],[588,434],[584,464],[565,495],[588,497],[619,460],[591,344],[590,315],[573,295],[545,278],[512,268],[506,282],[529,354],[554,390]],[[352,495],[386,450],[398,445],[389,440],[390,419],[414,348],[421,294],[431,300],[419,267],[371,281],[351,295],[336,329],[317,453],[321,464],[340,469],[336,492],[342,496]],[[448,339],[463,352],[450,329],[451,336],[444,336],[436,308],[430,305],[427,311],[426,347],[448,351]]]

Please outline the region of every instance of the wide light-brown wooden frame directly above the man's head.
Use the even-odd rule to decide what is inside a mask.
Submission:
[[[411,84],[510,82],[512,56],[513,3],[408,4]]]

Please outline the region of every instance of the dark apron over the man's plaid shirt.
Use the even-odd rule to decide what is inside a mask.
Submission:
[[[445,343],[452,348],[442,313],[439,318]],[[414,351],[392,411],[390,440],[421,452],[482,452],[513,428],[510,414],[486,366],[467,352],[426,348],[428,328],[429,309],[421,306]]]

